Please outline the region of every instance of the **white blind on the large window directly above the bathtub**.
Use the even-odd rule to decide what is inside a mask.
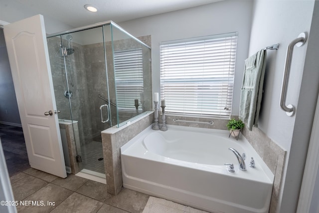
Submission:
[[[160,43],[165,112],[229,118],[237,33]]]

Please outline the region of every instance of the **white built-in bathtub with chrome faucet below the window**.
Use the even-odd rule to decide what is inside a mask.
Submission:
[[[167,126],[121,147],[125,188],[213,213],[268,213],[274,175],[242,135],[236,141],[225,130]],[[246,154],[247,171],[228,148]]]

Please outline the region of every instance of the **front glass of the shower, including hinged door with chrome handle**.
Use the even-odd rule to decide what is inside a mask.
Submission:
[[[51,61],[55,98],[58,109],[63,109],[59,119],[77,123],[74,138],[80,146],[80,171],[105,178],[101,131],[111,127],[112,120],[103,28],[62,34],[56,40],[50,48],[55,52]]]

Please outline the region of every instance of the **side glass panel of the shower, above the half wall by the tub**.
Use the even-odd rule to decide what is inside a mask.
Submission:
[[[152,110],[151,51],[114,24],[111,25],[111,31],[113,54],[110,53],[110,58],[113,57],[113,64],[108,67],[108,73],[113,70],[115,87],[110,87],[110,91],[114,89],[110,97],[116,99],[117,124],[121,126],[145,111]],[[110,37],[106,43],[110,48]]]

